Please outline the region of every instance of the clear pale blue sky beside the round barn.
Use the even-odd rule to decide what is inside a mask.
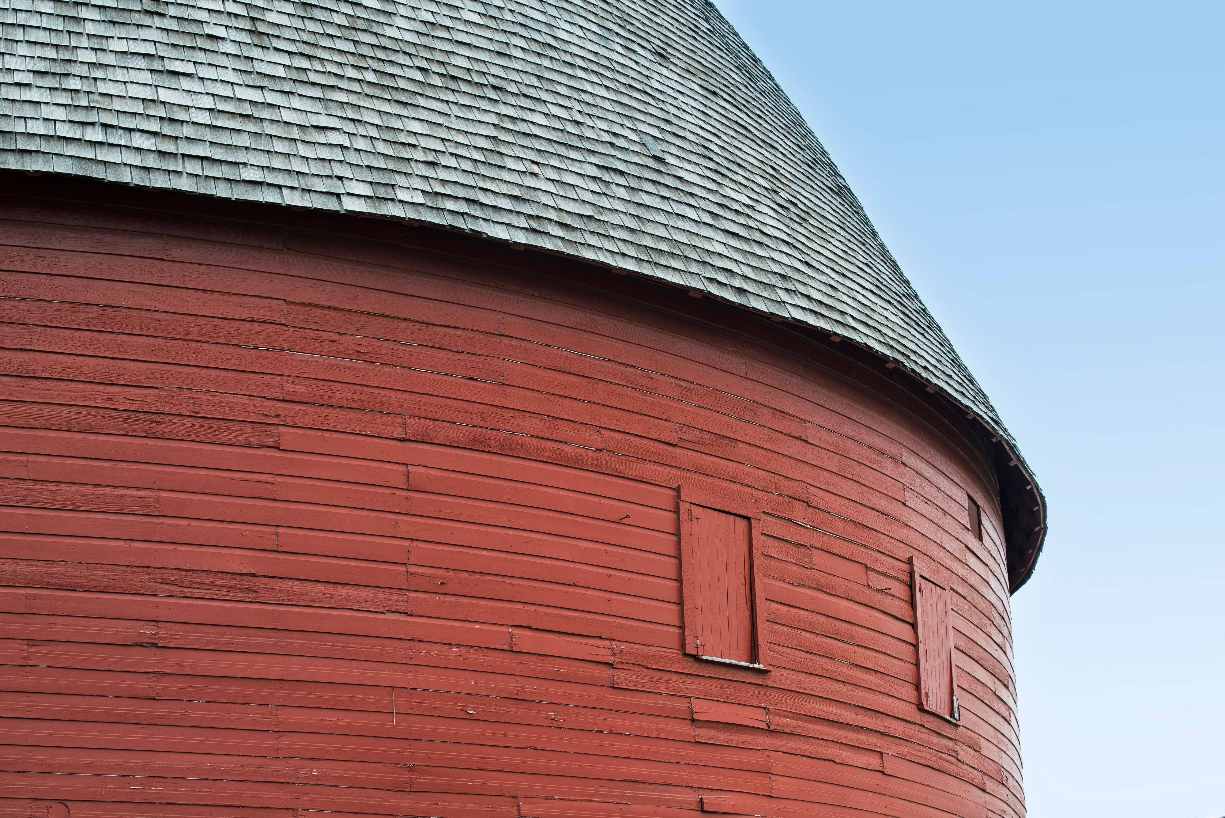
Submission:
[[[717,5],[1046,492],[1030,817],[1225,814],[1225,1]]]

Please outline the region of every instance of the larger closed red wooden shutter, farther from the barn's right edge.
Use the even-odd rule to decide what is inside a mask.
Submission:
[[[713,508],[717,503],[735,505],[712,498],[706,505],[680,505],[685,651],[701,659],[762,667],[756,523],[745,513]]]

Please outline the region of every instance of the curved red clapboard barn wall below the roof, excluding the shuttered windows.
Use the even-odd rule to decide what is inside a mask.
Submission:
[[[420,251],[4,218],[0,813],[1024,813],[997,489],[882,389]],[[679,485],[762,511],[769,672],[681,653]]]

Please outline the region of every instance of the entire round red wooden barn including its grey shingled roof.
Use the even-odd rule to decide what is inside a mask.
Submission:
[[[707,0],[0,20],[0,816],[1024,814],[1042,496]]]

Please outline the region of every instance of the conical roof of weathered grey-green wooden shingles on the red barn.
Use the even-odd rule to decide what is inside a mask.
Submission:
[[[0,9],[0,168],[431,223],[665,279],[897,361],[1023,468],[824,148],[706,0]]]

